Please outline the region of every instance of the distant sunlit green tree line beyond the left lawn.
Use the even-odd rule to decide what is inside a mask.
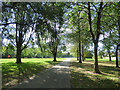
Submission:
[[[2,46],[2,58],[16,58],[16,48],[12,44]],[[57,52],[57,57],[73,57],[70,53],[63,53],[62,51]],[[52,58],[52,54],[46,50],[41,52],[38,47],[28,47],[21,53],[21,58]]]

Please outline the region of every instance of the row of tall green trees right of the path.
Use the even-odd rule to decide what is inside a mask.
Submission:
[[[111,49],[116,51],[116,67],[119,67],[120,2],[77,2],[70,3],[68,7],[71,9],[66,14],[66,18],[68,27],[72,29],[72,33],[68,37],[76,47],[79,63],[84,61],[84,49],[94,44],[94,69],[96,73],[101,73],[98,66],[98,43],[102,42],[103,49],[107,50],[110,61]],[[102,40],[100,40],[100,36],[103,37]]]

